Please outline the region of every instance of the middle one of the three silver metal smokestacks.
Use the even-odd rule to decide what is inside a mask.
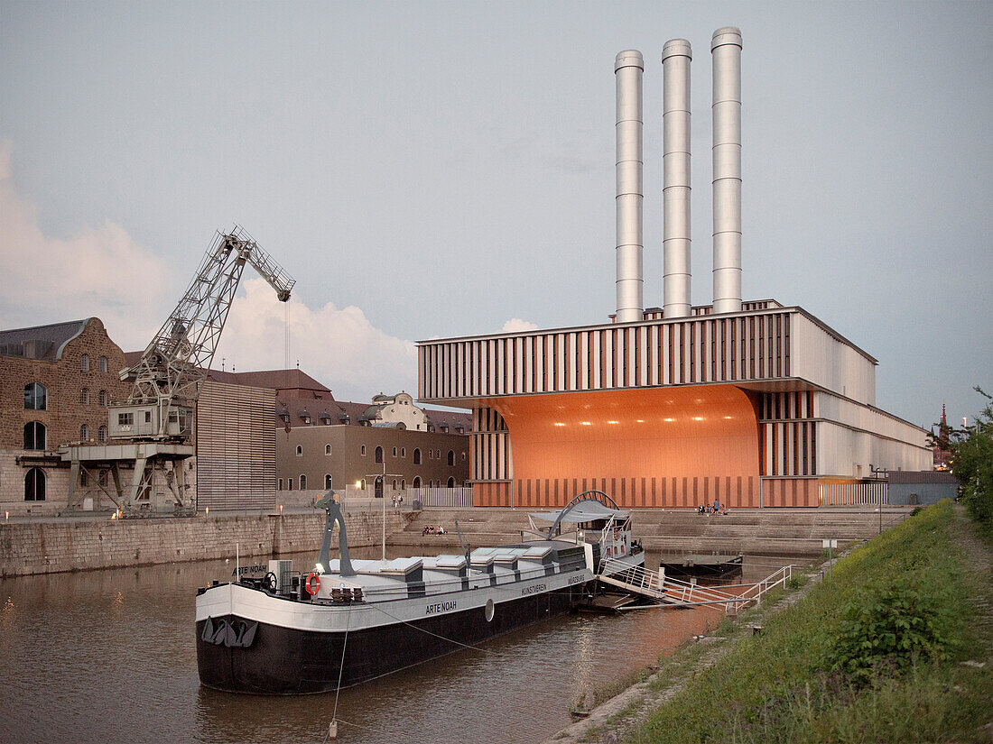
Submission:
[[[689,42],[672,39],[662,47],[662,200],[665,317],[690,311]]]

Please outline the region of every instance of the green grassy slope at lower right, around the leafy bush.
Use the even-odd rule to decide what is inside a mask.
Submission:
[[[988,741],[993,664],[989,623],[975,599],[993,594],[955,539],[942,502],[840,561],[798,604],[743,640],[651,715],[634,742]],[[919,658],[904,675],[857,688],[827,671],[825,654],[848,602],[867,587],[903,582],[932,608],[947,658]],[[988,604],[986,605],[989,606]],[[975,659],[982,669],[961,665]]]

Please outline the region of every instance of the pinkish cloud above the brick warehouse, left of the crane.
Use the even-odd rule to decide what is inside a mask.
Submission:
[[[14,188],[11,152],[10,140],[0,142],[0,326],[95,315],[125,351],[144,347],[158,327],[149,310],[164,300],[168,264],[109,219],[69,238],[46,235],[38,208]]]

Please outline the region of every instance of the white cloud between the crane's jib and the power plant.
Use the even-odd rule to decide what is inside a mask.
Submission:
[[[290,366],[324,383],[339,400],[367,401],[378,393],[417,394],[417,347],[374,327],[361,309],[333,303],[312,310],[298,298],[284,305],[263,279],[242,280],[244,297],[231,305],[214,356],[227,370],[280,369],[285,364],[286,310]]]

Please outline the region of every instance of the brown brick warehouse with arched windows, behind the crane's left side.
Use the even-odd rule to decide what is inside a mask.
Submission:
[[[106,439],[107,402],[129,392],[124,366],[96,317],[0,331],[0,510],[65,505],[59,445]]]

